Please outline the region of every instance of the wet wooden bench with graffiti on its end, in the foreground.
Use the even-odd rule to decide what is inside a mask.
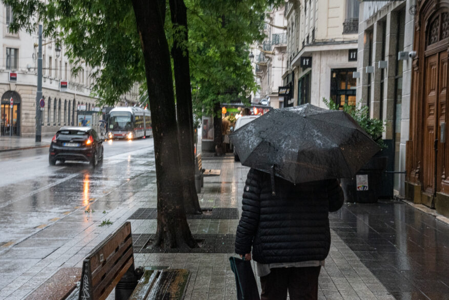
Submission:
[[[37,294],[39,290],[46,291],[47,297],[31,297],[33,294],[36,295],[35,292],[33,292],[33,294],[29,296],[29,300],[105,300],[127,272],[127,275],[131,274],[131,278],[127,278],[127,285],[130,284],[132,288],[132,275],[135,269],[131,223],[125,222],[114,233],[110,234],[84,259],[82,270],[79,270],[80,268],[77,269],[80,283],[77,288],[72,288],[73,291],[71,293],[70,291],[60,292],[60,296],[50,298],[48,297],[48,294],[52,293],[52,290],[49,290],[49,286],[45,286],[44,283],[44,285],[39,287],[35,292]],[[137,286],[132,292],[130,299],[182,299],[190,277],[190,272],[188,270],[148,269],[149,270],[145,271],[144,276],[142,276],[138,283],[138,278],[135,278],[135,284]],[[55,279],[53,279],[53,281],[55,281]],[[131,283],[129,281],[131,281]]]

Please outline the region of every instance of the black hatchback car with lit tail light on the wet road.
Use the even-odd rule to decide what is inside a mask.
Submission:
[[[103,140],[90,127],[62,127],[53,136],[48,162],[89,162],[92,167],[103,162]]]

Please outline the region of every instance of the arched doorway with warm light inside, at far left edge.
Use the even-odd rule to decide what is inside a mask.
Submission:
[[[11,98],[13,106],[10,106]],[[12,110],[11,110],[12,108]],[[2,106],[0,109],[0,135],[20,135],[21,125],[21,97],[17,92],[7,91],[2,96]]]

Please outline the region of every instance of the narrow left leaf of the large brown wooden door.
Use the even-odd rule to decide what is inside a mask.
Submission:
[[[437,119],[438,98],[438,53],[426,58],[425,68],[425,99],[423,118],[423,157],[422,157],[422,186],[426,193],[434,193],[435,168],[435,125]]]

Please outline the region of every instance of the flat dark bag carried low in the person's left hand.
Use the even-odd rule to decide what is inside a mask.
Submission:
[[[260,300],[256,278],[254,278],[251,261],[234,256],[229,257],[231,270],[234,272],[237,286],[237,300]]]

